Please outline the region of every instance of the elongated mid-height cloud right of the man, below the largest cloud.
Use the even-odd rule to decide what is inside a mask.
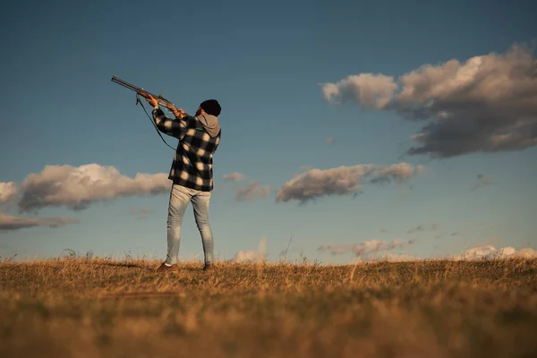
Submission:
[[[405,182],[417,175],[422,166],[407,163],[393,166],[371,164],[339,166],[327,170],[310,169],[284,183],[277,192],[277,202],[299,200],[302,204],[329,195],[349,195],[359,192],[363,179],[371,183]]]

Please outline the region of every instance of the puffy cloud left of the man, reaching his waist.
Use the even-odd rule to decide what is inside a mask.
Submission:
[[[45,166],[40,174],[30,174],[21,183],[19,211],[65,206],[86,209],[99,200],[169,192],[165,173],[121,175],[114,166]]]

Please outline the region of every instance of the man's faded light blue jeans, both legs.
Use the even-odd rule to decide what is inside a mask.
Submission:
[[[188,203],[192,201],[196,225],[201,235],[205,263],[213,263],[213,235],[209,226],[210,192],[201,192],[174,184],[170,192],[167,217],[167,255],[166,263],[179,261],[179,243],[181,242],[181,224]]]

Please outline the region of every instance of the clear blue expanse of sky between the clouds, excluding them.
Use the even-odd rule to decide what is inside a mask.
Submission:
[[[337,87],[343,103],[323,96],[323,84],[360,73],[396,81],[425,64],[456,59],[462,66],[473,56],[505,54],[537,38],[536,11],[531,1],[12,4],[0,25],[6,54],[0,66],[0,183],[21,184],[45,166],[114,166],[128,177],[167,174],[173,151],[135,106],[134,93],[110,81],[115,75],[161,93],[191,114],[204,99],[221,103],[222,141],[214,158],[210,207],[220,260],[257,250],[261,237],[267,238],[269,260],[277,260],[291,236],[291,259],[303,251],[323,262],[347,261],[350,255],[330,256],[317,250],[320,245],[371,240],[415,238],[386,252],[422,258],[484,244],[535,248],[534,132],[523,127],[530,138],[524,145],[511,141],[509,149],[401,158],[415,145],[410,137],[430,121],[362,106],[355,90],[375,92],[371,88],[378,88],[377,80],[368,82],[372,87]],[[512,89],[521,82],[513,79]],[[447,80],[436,84],[441,83]],[[463,108],[466,102],[457,93],[449,92],[448,99],[462,101]],[[522,118],[512,115],[518,107],[501,107],[501,96],[507,95],[494,101],[499,120],[505,113],[505,121],[515,124]],[[479,115],[481,107],[475,106],[472,113]],[[533,114],[534,121],[535,105],[524,106],[520,113]],[[460,148],[453,141],[442,145]],[[404,183],[363,182],[356,197],[325,195],[305,205],[276,202],[275,192],[310,168],[388,167],[402,161],[424,170]],[[245,179],[222,179],[234,172]],[[235,190],[253,181],[274,192],[236,200]],[[477,189],[476,183],[481,183]],[[163,192],[97,200],[81,210],[48,206],[23,213],[16,202],[5,203],[0,212],[12,219],[70,217],[77,222],[0,230],[0,256],[47,258],[72,249],[164,258],[167,200]],[[132,209],[148,213],[139,218]],[[433,224],[439,229],[430,230]],[[426,230],[407,233],[420,225]],[[192,207],[183,221],[181,245],[182,259],[201,252]]]

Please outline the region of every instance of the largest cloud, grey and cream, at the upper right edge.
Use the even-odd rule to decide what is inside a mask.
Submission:
[[[505,54],[465,62],[423,64],[399,76],[361,73],[325,83],[330,103],[354,101],[365,109],[395,111],[430,121],[411,138],[406,154],[449,158],[537,145],[537,59],[514,45]]]

